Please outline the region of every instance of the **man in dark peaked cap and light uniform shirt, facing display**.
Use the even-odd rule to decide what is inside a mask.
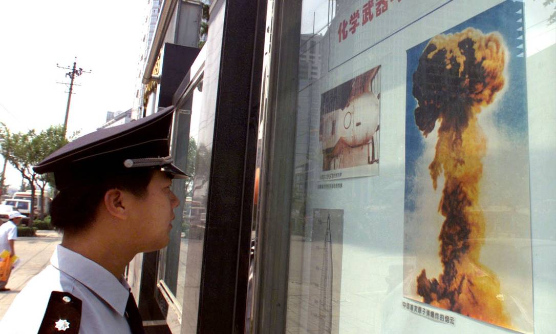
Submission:
[[[170,240],[178,199],[168,137],[173,108],[72,141],[34,170],[54,173],[51,263],[19,293],[0,333],[144,333],[123,272]]]

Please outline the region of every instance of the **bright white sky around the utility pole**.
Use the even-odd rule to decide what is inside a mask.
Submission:
[[[146,0],[0,2],[0,121],[12,131],[63,124],[69,82],[56,67],[92,70],[75,81],[68,133],[86,134],[107,111],[130,109],[135,97]],[[0,163],[3,159],[0,158]],[[9,164],[8,164],[9,165]],[[2,165],[0,165],[0,170]],[[19,186],[9,168],[7,183]]]

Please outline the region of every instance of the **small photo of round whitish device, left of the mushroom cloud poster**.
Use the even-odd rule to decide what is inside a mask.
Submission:
[[[380,66],[321,95],[322,171],[342,177],[378,175]],[[351,169],[351,170],[350,170]]]

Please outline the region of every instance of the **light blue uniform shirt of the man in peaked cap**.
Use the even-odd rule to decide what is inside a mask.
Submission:
[[[130,294],[127,282],[62,245],[54,250],[49,266],[14,299],[0,322],[0,333],[36,333],[52,291],[81,299],[80,334],[131,333],[124,317]]]

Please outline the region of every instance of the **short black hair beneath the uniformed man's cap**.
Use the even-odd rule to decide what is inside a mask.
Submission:
[[[64,188],[52,200],[50,215],[52,225],[60,232],[76,233],[90,227],[106,191],[119,189],[130,191],[143,198],[155,169],[131,169],[126,174],[93,178],[86,185]]]

